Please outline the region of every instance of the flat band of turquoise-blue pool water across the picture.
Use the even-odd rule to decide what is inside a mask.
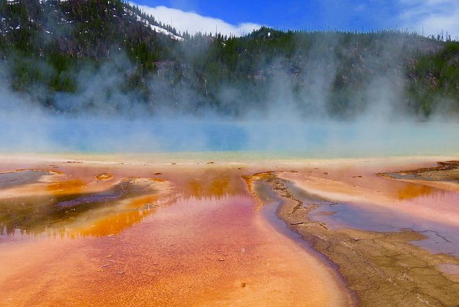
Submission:
[[[303,158],[459,153],[459,123],[56,118],[3,121],[0,131],[3,152],[249,151]]]

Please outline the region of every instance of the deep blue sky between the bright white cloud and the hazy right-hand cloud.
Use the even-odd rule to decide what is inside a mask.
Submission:
[[[166,6],[215,17],[228,23],[258,23],[289,29],[377,29],[395,27],[393,1],[184,1],[137,0],[155,7]]]

